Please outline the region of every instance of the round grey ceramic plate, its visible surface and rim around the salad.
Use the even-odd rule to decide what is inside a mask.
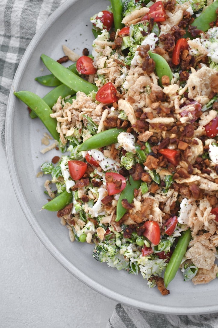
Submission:
[[[66,1],[35,35],[16,72],[13,88],[44,96],[48,89],[34,78],[42,75],[40,55],[58,59],[63,56],[62,44],[81,54],[92,49],[90,16],[108,6],[104,0]],[[46,73],[46,71],[44,71]],[[43,74],[44,74],[43,73]],[[157,288],[149,289],[141,274],[129,275],[111,269],[92,257],[92,245],[71,243],[68,230],[61,226],[55,213],[39,211],[46,202],[44,177],[36,178],[40,164],[51,161],[53,153],[40,153],[45,128],[31,120],[26,106],[10,92],[6,118],[6,147],[12,183],[23,212],[35,233],[53,256],[75,277],[99,293],[118,302],[143,310],[169,314],[202,314],[218,312],[215,290],[217,281],[194,286],[183,282],[177,273],[170,283],[170,295],[161,296]],[[57,153],[57,151],[56,151]],[[55,153],[55,154],[56,154]]]

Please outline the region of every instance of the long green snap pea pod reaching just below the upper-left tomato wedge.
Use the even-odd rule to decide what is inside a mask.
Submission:
[[[81,77],[77,76],[75,73],[69,71],[66,67],[59,64],[54,59],[42,54],[42,61],[47,67],[47,69],[52,72],[63,84],[68,88],[89,94],[92,91],[97,91],[96,85],[83,80]]]

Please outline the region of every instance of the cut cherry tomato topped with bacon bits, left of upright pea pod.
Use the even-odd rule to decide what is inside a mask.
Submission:
[[[126,187],[126,179],[119,173],[106,172],[105,177],[109,196],[120,193]]]

